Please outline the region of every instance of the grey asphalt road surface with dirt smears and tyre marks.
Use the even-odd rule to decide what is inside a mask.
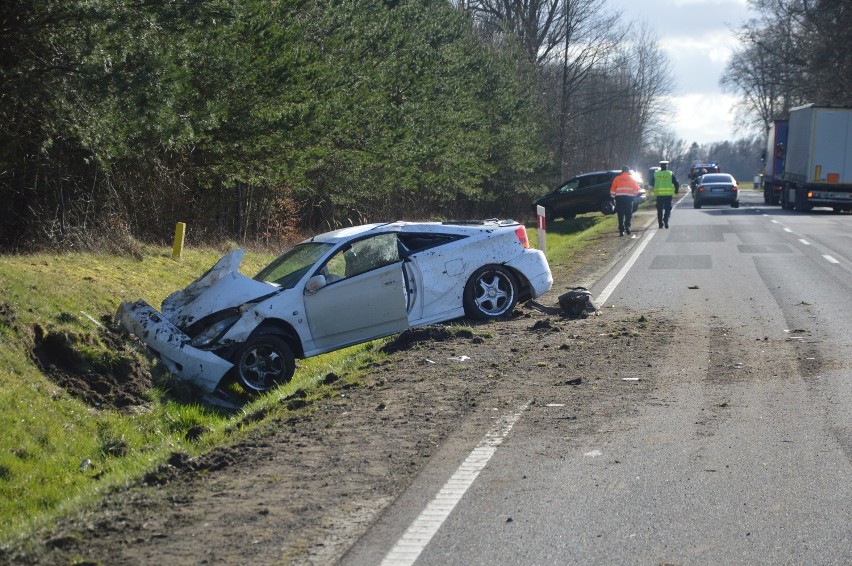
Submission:
[[[743,200],[687,196],[671,229],[637,231],[604,309],[676,321],[636,376],[650,400],[572,439],[520,408],[417,565],[852,564],[852,216]],[[417,512],[390,511],[346,562],[385,556]]]

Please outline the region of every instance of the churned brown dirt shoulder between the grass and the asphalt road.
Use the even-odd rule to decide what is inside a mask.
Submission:
[[[557,308],[559,295],[589,286],[632,241],[600,237],[557,273],[538,302],[546,308],[520,305],[509,320],[469,331],[439,325],[399,335],[387,357],[364,368],[359,386],[330,375],[333,395],[290,399],[292,416],[202,457],[176,452],[26,548],[0,550],[0,562],[338,562],[472,415],[558,397],[566,403],[559,425],[571,435],[636,410],[651,387],[637,377],[653,367],[654,347],[672,339],[674,326],[657,314],[605,308],[569,318]],[[102,376],[94,387],[69,370],[67,340],[42,335],[36,343],[45,371],[93,406],[144,400],[150,382],[139,368]],[[632,355],[617,355],[624,351]]]

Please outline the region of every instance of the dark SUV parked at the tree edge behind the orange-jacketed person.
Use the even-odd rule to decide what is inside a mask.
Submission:
[[[533,213],[535,213],[537,205],[541,205],[544,207],[547,219],[574,218],[577,214],[586,212],[613,214],[615,206],[609,196],[609,187],[619,173],[621,173],[621,169],[595,171],[594,173],[583,173],[572,177],[552,192],[535,201]],[[636,177],[641,186],[641,177],[635,172],[633,176]],[[642,188],[633,203],[634,212],[641,203],[645,202],[645,198],[645,189]]]

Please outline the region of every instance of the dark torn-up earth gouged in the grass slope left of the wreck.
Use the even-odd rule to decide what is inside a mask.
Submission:
[[[148,403],[151,374],[119,337],[33,327],[33,360],[54,383],[97,409]],[[104,345],[112,351],[104,353]]]

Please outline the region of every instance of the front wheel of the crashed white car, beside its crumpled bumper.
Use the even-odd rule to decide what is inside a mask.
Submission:
[[[257,334],[240,346],[233,358],[234,374],[247,393],[263,393],[292,379],[296,358],[277,334]]]

